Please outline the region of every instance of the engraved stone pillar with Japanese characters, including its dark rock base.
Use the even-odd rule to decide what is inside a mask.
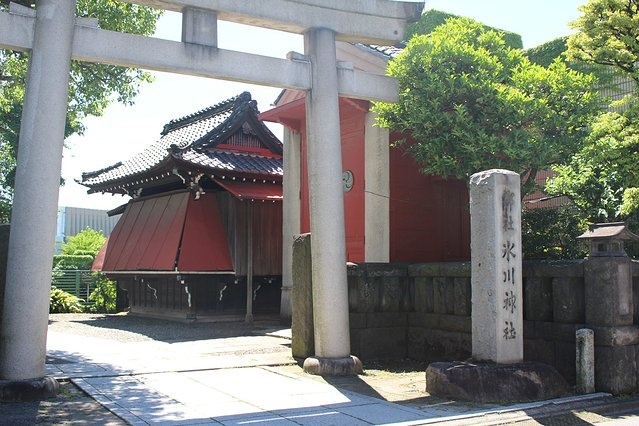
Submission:
[[[435,362],[426,390],[465,401],[539,401],[566,392],[553,367],[524,363],[519,175],[470,177],[472,362]],[[479,362],[477,362],[479,361]]]

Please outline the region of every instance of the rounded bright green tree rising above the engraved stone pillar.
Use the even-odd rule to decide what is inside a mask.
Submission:
[[[536,173],[579,150],[598,111],[592,76],[555,60],[544,67],[508,47],[502,34],[468,18],[414,36],[388,73],[399,102],[377,103],[378,123],[410,135],[425,174],[468,178],[492,168]]]

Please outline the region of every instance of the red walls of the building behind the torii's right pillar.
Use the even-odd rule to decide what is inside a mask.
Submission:
[[[294,105],[291,107],[291,105]],[[303,100],[272,110],[277,118],[301,133],[301,232],[310,232],[306,123]],[[364,123],[368,103],[340,98],[342,170],[354,175],[344,194],[346,256],[364,259]],[[397,140],[398,135],[391,135]],[[390,260],[436,262],[470,259],[470,215],[466,183],[424,176],[409,155],[390,149]]]

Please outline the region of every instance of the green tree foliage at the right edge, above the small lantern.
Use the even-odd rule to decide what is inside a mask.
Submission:
[[[612,67],[635,89],[593,122],[548,191],[569,196],[592,221],[616,220],[639,212],[639,0],[590,0],[580,10],[567,57]]]

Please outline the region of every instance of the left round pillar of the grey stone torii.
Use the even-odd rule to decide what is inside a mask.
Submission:
[[[45,380],[51,258],[75,1],[39,0],[20,126],[0,341],[0,378]]]

